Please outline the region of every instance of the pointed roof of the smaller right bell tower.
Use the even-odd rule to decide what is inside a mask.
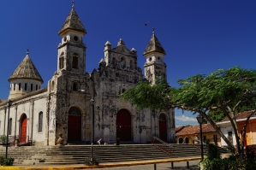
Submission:
[[[146,56],[147,54],[152,53],[152,52],[158,52],[158,53],[162,53],[162,54],[166,55],[164,48],[158,41],[158,38],[154,31],[152,34],[152,38],[150,39],[149,43],[146,46],[146,50],[144,51],[143,56]]]

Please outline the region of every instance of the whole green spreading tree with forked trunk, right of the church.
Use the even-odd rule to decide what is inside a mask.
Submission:
[[[255,79],[256,70],[231,67],[228,70],[217,69],[207,76],[199,74],[179,79],[180,88],[170,88],[164,81],[157,85],[140,82],[134,89],[123,93],[120,98],[136,104],[138,108],[182,108],[199,113],[211,123],[229,148],[242,156],[244,143],[241,141],[245,138],[247,122],[256,108]],[[240,138],[236,114],[249,110],[251,114],[247,117]],[[237,150],[217,128],[213,118],[219,117],[220,113],[229,118],[234,128]]]

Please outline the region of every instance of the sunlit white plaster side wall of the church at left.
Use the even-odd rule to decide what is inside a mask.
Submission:
[[[7,106],[0,107],[0,134],[6,134],[7,131],[7,120],[8,120],[8,111],[9,119],[12,119],[12,127],[10,136],[19,136],[21,134],[21,117],[23,114],[27,115],[27,136],[28,140],[33,141],[44,141],[45,134],[39,134],[37,131],[37,124],[39,120],[39,111],[43,112],[43,132],[45,131],[45,122],[46,122],[46,93],[41,93],[33,97],[23,98],[19,101],[12,103],[10,110]],[[6,110],[6,116],[4,116],[4,108]],[[32,119],[33,118],[33,119]],[[5,128],[4,128],[5,122]],[[3,132],[4,130],[4,132]],[[28,142],[28,141],[27,141]]]

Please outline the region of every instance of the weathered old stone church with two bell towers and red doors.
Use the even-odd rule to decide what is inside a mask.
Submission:
[[[107,144],[116,139],[124,144],[148,144],[152,136],[176,143],[174,109],[137,110],[118,96],[147,79],[166,78],[166,55],[155,32],[143,56],[144,73],[137,66],[137,51],[129,50],[120,39],[104,44],[104,58],[92,73],[86,73],[86,28],[74,5],[58,32],[57,71],[44,82],[29,51],[9,77],[9,98],[0,101],[0,135],[19,139],[21,144],[90,144],[102,138]],[[158,102],[158,101],[156,101]]]

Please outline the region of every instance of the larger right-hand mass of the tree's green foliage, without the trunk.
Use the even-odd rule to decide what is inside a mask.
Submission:
[[[239,101],[241,104],[237,111],[244,111],[244,106],[252,109],[255,107],[255,79],[256,70],[241,67],[217,69],[208,76],[199,74],[188,79],[179,79],[182,87],[173,92],[172,100],[201,111],[227,103],[234,107]],[[248,97],[250,101],[247,100]]]

